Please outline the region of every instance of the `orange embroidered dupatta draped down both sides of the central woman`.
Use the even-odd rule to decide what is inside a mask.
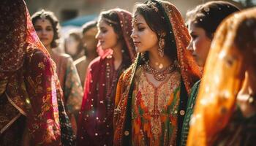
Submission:
[[[192,54],[186,49],[189,44],[189,33],[187,27],[184,24],[184,20],[181,18],[180,12],[173,4],[167,1],[151,1],[157,3],[157,8],[162,10],[162,13],[169,24],[170,35],[172,42],[172,49],[177,50],[178,64],[180,67],[182,82],[187,93],[190,93],[192,85],[195,81],[201,77],[199,66],[195,63]],[[127,69],[119,78],[117,89],[116,89],[116,109],[114,113],[114,145],[129,145],[124,143],[124,137],[128,136],[130,131],[126,130],[127,110],[131,105],[129,104],[129,98],[132,96],[132,90],[134,85],[134,75],[138,66],[140,66],[140,53],[135,59],[135,63]],[[129,116],[129,115],[128,115]],[[131,124],[130,124],[131,125]],[[128,139],[130,141],[130,138]]]

